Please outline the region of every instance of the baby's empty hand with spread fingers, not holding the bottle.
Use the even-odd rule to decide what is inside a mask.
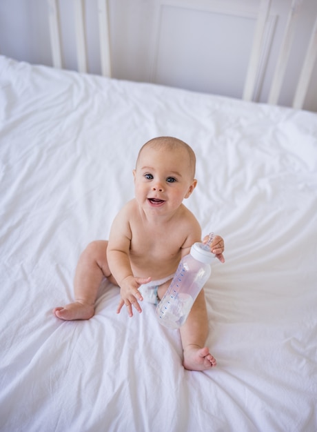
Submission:
[[[127,276],[123,281],[121,282],[120,286],[120,294],[121,299],[118,304],[118,307],[116,308],[116,313],[120,313],[123,305],[127,306],[127,313],[130,317],[132,317],[132,304],[134,308],[136,308],[136,311],[139,313],[142,312],[141,306],[138,303],[138,300],[142,302],[143,297],[141,293],[139,292],[139,286],[142,284],[147,284],[147,282],[150,282],[150,277],[134,277],[134,276]]]

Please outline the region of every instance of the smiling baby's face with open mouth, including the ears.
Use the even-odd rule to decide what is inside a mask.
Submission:
[[[144,210],[160,214],[176,210],[196,186],[190,157],[183,148],[144,148],[133,173],[137,202]]]

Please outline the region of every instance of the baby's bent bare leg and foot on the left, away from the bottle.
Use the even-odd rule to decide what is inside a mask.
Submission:
[[[89,320],[94,315],[94,302],[103,278],[116,283],[107,262],[107,246],[103,240],[92,242],[79,257],[74,277],[75,302],[53,309],[61,320]]]

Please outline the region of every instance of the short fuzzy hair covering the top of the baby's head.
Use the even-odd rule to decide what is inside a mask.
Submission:
[[[151,148],[164,153],[168,158],[170,153],[177,153],[180,157],[183,156],[186,161],[187,173],[190,174],[191,179],[195,177],[196,170],[196,156],[192,148],[184,141],[174,137],[157,137],[147,141],[140,149],[138,158],[136,159],[136,167],[140,161],[143,150]]]

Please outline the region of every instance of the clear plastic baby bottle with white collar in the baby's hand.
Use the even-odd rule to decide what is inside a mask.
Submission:
[[[214,254],[210,252],[214,234],[210,233],[207,244],[194,243],[190,253],[185,255],[163,299],[156,306],[156,317],[167,327],[176,329],[187,320],[188,314],[201,288],[212,271],[210,264]]]

